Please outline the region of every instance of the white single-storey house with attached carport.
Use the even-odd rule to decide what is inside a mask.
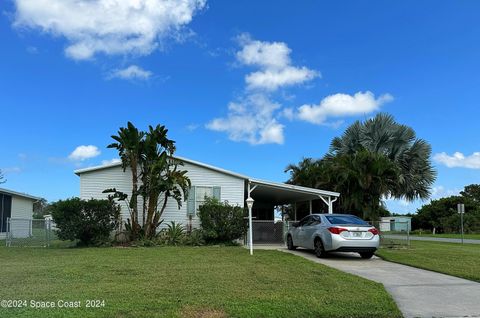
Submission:
[[[197,211],[205,196],[216,197],[221,201],[228,201],[230,204],[240,207],[244,207],[245,200],[250,196],[255,200],[252,208],[253,219],[269,220],[272,223],[275,218],[276,206],[284,204],[296,206],[297,202],[309,202],[307,204],[310,207],[308,214],[313,212],[312,201],[317,200],[323,202],[325,211],[333,213],[333,202],[339,196],[339,193],[336,192],[259,180],[187,158],[175,158],[184,163],[182,169],[187,170],[192,188],[187,201],[180,209],[175,200],[168,201],[162,215],[164,219],[162,226],[175,221],[191,225],[193,228],[199,227]],[[130,194],[132,190],[131,172],[129,169],[124,172],[121,163],[80,169],[76,170],[75,174],[80,177],[81,199],[105,199],[108,194],[102,193],[102,191],[109,188],[116,188],[127,194]],[[139,201],[138,209],[141,211],[140,198]],[[297,218],[296,213],[295,216]],[[298,219],[300,216],[298,215]],[[127,204],[123,202],[122,218],[126,221],[129,217]],[[141,221],[141,216],[139,217]]]

